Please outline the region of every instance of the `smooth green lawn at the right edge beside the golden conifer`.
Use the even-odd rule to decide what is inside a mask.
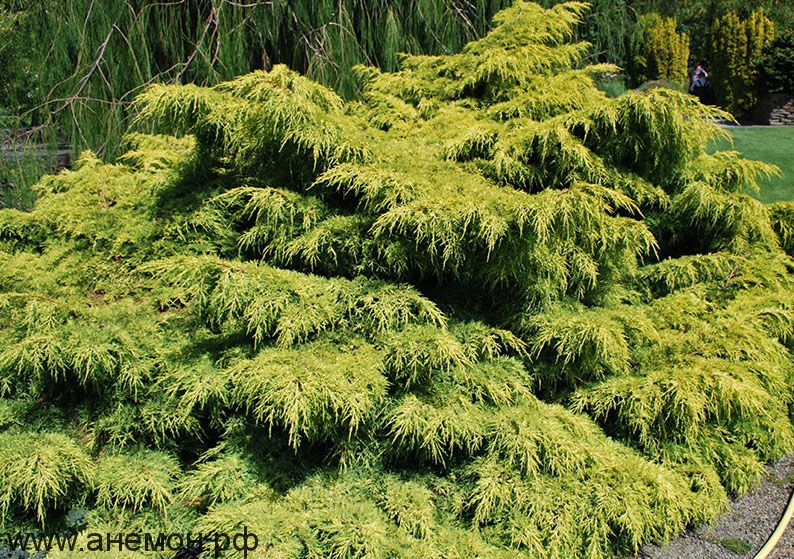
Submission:
[[[736,149],[749,159],[774,163],[783,172],[761,183],[758,198],[763,202],[794,201],[794,126],[731,127],[730,142],[720,142],[719,149]]]

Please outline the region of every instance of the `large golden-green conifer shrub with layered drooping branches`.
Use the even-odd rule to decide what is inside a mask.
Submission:
[[[692,97],[599,91],[585,8],[519,1],[357,102],[152,86],[161,135],[0,212],[5,527],[601,558],[758,483],[794,446],[791,219],[745,194],[775,168],[708,155]]]

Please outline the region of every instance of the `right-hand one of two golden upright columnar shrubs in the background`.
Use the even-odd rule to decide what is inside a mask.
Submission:
[[[758,94],[758,60],[775,38],[775,25],[755,10],[747,19],[728,12],[709,33],[711,77],[717,100],[732,113],[753,109]]]

